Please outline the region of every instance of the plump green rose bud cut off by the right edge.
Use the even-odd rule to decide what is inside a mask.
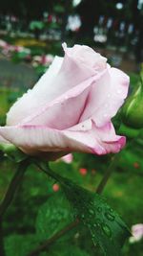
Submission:
[[[143,85],[139,83],[122,109],[123,123],[129,128],[143,128]]]

